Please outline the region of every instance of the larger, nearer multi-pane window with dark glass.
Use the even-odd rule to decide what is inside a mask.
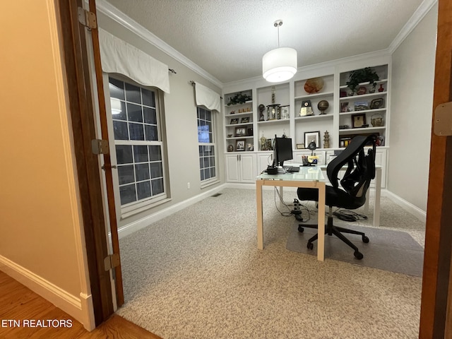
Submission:
[[[158,92],[109,77],[109,93],[121,208],[166,198]]]

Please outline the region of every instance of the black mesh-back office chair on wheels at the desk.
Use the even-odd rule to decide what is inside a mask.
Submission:
[[[364,145],[371,145],[364,153]],[[326,186],[326,205],[329,206],[328,221],[325,227],[325,234],[335,235],[345,244],[355,250],[355,258],[362,259],[364,256],[359,252],[357,246],[350,242],[342,233],[359,234],[362,241],[367,243],[369,238],[363,232],[348,230],[343,227],[333,225],[333,206],[338,208],[347,208],[354,210],[364,205],[366,202],[366,192],[369,189],[371,179],[375,177],[375,146],[376,136],[355,136],[350,144],[343,150],[340,155],[335,157],[326,167],[326,174],[333,186]],[[338,173],[340,169],[347,164],[347,169],[343,179],[338,184]],[[319,201],[319,190],[309,188],[299,188],[297,195],[300,201]],[[317,228],[317,225],[299,225],[299,232],[303,232],[304,228]],[[308,249],[313,249],[312,242],[316,241],[319,234],[314,235],[308,240]]]

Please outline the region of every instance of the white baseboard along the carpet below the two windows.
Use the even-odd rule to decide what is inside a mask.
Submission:
[[[215,193],[218,193],[225,187],[227,187],[226,184],[216,186],[215,188],[210,189],[206,192],[203,192],[202,194],[198,194],[197,196],[189,198],[185,201],[176,203],[173,206],[169,206],[168,208],[159,210],[157,213],[148,215],[145,218],[136,220],[135,222],[131,222],[128,225],[120,227],[118,229],[118,237],[119,238],[126,237],[126,235],[132,234],[133,232],[141,230],[144,227],[148,227],[153,222],[166,218],[167,216],[172,215],[173,213],[176,213],[179,210],[183,210],[184,208],[189,207],[189,206],[193,205],[194,203],[198,203],[199,201],[202,201],[203,199],[208,198],[209,196],[212,196]],[[110,237],[110,234],[109,234],[109,237]]]

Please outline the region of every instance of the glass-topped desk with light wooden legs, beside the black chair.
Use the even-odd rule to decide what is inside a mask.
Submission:
[[[325,259],[325,177],[321,167],[300,167],[299,172],[285,174],[261,174],[256,178],[257,202],[257,248],[263,249],[263,207],[262,186],[308,187],[319,189],[319,239],[317,239],[317,259]]]

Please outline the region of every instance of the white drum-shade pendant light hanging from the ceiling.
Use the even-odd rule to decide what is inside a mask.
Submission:
[[[278,83],[289,80],[297,73],[297,51],[280,47],[280,25],[283,25],[283,20],[276,20],[273,25],[278,28],[278,48],[263,55],[262,74],[269,83]]]

